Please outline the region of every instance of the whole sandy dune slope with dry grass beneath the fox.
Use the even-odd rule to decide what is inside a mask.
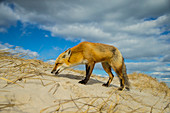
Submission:
[[[0,57],[0,112],[116,112],[168,113],[170,90],[144,74],[129,75],[130,91],[118,91],[118,78],[110,87],[108,78],[93,75],[79,84],[83,72],[66,70],[50,74],[51,65],[38,60]]]

